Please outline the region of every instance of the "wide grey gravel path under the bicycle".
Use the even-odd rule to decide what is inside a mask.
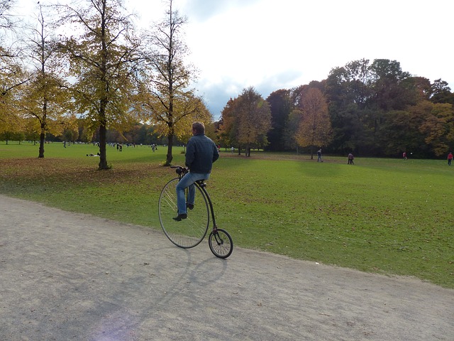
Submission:
[[[1,195],[0,271],[0,340],[454,340],[453,290]]]

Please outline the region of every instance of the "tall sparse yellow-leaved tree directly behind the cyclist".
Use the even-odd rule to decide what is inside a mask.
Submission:
[[[145,82],[138,101],[138,109],[148,113],[146,118],[155,125],[156,131],[167,136],[167,166],[172,163],[175,138],[184,139],[193,121],[204,124],[212,121],[203,100],[189,88],[196,78],[196,70],[184,62],[189,53],[183,40],[186,23],[187,18],[180,16],[173,9],[172,0],[168,0],[165,18],[148,36],[150,68],[142,75]]]

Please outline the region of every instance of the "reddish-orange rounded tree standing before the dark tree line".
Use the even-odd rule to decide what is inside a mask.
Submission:
[[[311,147],[311,159],[314,158],[314,146],[322,147],[331,141],[331,121],[328,105],[320,90],[311,88],[301,100],[302,119],[295,136],[301,147]]]

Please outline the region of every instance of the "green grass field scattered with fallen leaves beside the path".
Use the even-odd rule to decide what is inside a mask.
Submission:
[[[167,149],[0,142],[0,193],[160,229],[157,200],[174,177]],[[183,164],[174,148],[174,164]],[[218,226],[238,247],[361,271],[416,276],[454,288],[454,165],[446,161],[221,150],[208,190]]]

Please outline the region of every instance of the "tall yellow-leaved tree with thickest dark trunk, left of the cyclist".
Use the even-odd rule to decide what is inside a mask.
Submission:
[[[64,23],[75,24],[63,37],[62,53],[70,60],[74,84],[74,104],[79,114],[99,129],[99,169],[109,169],[106,156],[106,132],[131,127],[131,95],[136,87],[140,64],[140,40],[135,38],[131,15],[121,0],[87,0],[87,6],[60,5],[66,14]]]

